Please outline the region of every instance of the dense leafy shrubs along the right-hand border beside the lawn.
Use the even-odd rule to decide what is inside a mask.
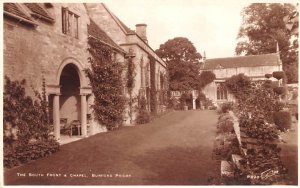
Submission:
[[[247,176],[261,176],[266,170],[278,171],[276,176],[251,180],[252,184],[272,184],[284,178],[285,168],[279,157],[278,129],[274,124],[274,113],[283,109],[283,103],[273,90],[270,80],[248,83],[247,77],[226,80],[228,89],[236,98],[234,111],[238,115],[242,137],[242,147],[247,155],[241,161]],[[240,83],[248,84],[240,84]],[[245,87],[246,86],[246,87]]]

